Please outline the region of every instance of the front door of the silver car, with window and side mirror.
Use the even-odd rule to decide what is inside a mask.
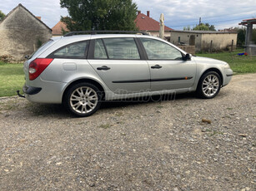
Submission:
[[[193,86],[196,75],[196,63],[183,60],[181,51],[153,38],[141,37],[148,56],[151,91],[183,89]]]

